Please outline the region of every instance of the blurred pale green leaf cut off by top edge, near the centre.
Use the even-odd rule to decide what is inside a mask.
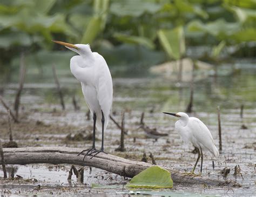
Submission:
[[[156,13],[161,8],[160,4],[149,1],[115,1],[111,3],[110,12],[114,15],[139,17],[143,13]]]

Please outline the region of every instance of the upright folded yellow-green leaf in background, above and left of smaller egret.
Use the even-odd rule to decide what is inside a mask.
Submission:
[[[181,26],[172,30],[159,30],[157,34],[161,46],[170,58],[177,60],[185,54],[185,37]]]

